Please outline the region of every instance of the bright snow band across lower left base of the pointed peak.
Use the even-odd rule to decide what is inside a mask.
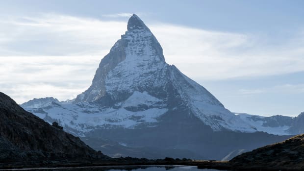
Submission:
[[[118,104],[120,107],[102,108],[99,105],[89,102],[79,102],[77,104],[52,103],[42,108],[26,108],[29,112],[35,113],[47,122],[56,121],[60,125],[73,128],[79,131],[78,135],[89,132],[96,128],[124,127],[133,129],[140,124],[152,126],[157,122],[157,117],[167,112],[168,109],[160,108],[161,105],[155,103],[161,100],[154,98],[147,93],[136,92],[124,103]],[[131,108],[138,109],[140,106],[151,106],[149,109],[132,111]]]

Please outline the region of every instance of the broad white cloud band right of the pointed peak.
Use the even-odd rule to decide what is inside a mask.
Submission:
[[[304,71],[304,36],[277,46],[263,37],[158,25],[167,61],[196,79],[215,80]],[[299,40],[300,39],[300,40]]]

